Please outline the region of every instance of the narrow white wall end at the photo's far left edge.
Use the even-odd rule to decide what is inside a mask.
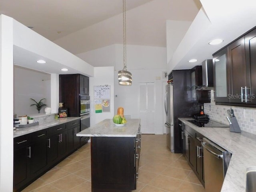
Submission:
[[[13,181],[13,19],[0,15],[0,191]]]

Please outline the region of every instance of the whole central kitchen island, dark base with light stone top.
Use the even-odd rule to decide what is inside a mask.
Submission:
[[[140,157],[140,119],[115,125],[105,119],[76,134],[91,137],[92,192],[136,189]]]

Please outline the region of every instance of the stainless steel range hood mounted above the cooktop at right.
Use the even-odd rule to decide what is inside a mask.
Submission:
[[[213,64],[212,59],[202,62],[202,80],[203,85],[196,90],[212,90],[213,89]]]

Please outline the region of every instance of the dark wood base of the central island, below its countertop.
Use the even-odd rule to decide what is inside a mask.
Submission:
[[[92,192],[136,190],[140,134],[139,126],[136,137],[91,137]]]

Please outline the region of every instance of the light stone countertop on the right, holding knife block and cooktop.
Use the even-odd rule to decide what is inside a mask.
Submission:
[[[246,132],[230,132],[229,128],[198,127],[187,121],[192,118],[179,120],[232,153],[221,192],[245,192],[246,168],[256,166],[256,138]]]

